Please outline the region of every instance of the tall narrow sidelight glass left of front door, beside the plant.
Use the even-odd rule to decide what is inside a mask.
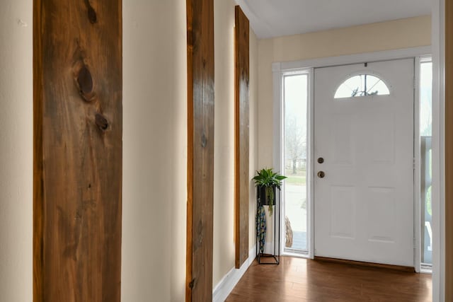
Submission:
[[[285,249],[304,251],[306,240],[306,129],[308,76],[285,76]]]

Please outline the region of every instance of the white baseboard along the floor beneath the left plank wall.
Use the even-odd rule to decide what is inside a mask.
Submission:
[[[219,283],[214,287],[212,291],[212,301],[213,302],[224,302],[231,291],[234,289],[234,286],[238,284],[239,279],[246,272],[248,267],[253,263],[256,257],[256,245],[248,252],[248,259],[243,262],[243,265],[240,269],[235,269],[234,267],[219,281]]]

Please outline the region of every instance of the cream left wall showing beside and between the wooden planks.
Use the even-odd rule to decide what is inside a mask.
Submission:
[[[0,11],[0,301],[23,302],[33,300],[33,3],[7,2]],[[185,0],[122,5],[122,301],[183,301]],[[215,16],[214,285],[234,267],[234,1],[216,0]],[[257,53],[251,31],[251,176],[258,162]],[[254,198],[251,185],[251,248]]]

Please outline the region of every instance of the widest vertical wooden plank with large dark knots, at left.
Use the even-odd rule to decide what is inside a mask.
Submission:
[[[33,8],[33,300],[120,301],[122,3]]]

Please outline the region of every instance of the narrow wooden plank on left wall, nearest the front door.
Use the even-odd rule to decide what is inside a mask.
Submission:
[[[235,7],[234,30],[234,170],[235,170],[235,243],[236,269],[248,258],[248,81],[249,81],[248,18]]]

